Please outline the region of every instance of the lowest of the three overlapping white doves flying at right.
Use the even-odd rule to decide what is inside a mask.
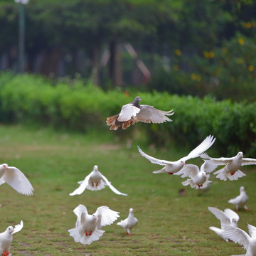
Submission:
[[[206,171],[210,171],[211,169],[215,169],[215,166],[212,166],[211,164],[207,164],[204,162],[201,165],[201,168],[199,170],[198,166],[195,164],[186,164],[181,171],[178,171],[177,175],[181,175],[181,178],[188,178],[186,181],[182,182],[183,186],[190,185],[191,188],[203,188],[203,184],[207,181],[207,175]],[[211,181],[208,181],[210,183]],[[208,183],[205,185],[207,186]]]

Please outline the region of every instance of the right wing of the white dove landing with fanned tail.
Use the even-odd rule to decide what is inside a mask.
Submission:
[[[119,218],[119,212],[111,210],[107,206],[100,206],[95,212],[97,217],[97,229],[101,229],[105,225],[111,225],[117,218]]]

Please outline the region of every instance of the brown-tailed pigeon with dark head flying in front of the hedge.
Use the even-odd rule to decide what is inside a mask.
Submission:
[[[132,124],[136,122],[154,123],[160,124],[166,121],[171,122],[169,119],[173,115],[173,110],[162,111],[149,105],[139,105],[141,98],[139,96],[135,97],[134,101],[122,106],[121,112],[112,117],[107,117],[107,125],[110,125],[110,129],[118,129],[122,126],[122,129],[127,129]]]

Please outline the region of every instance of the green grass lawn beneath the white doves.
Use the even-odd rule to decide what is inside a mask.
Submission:
[[[127,147],[126,142],[116,142],[114,132],[107,129],[102,134],[70,134],[1,125],[0,134],[0,163],[21,169],[35,189],[28,197],[6,184],[0,186],[0,231],[21,219],[24,222],[23,230],[14,235],[13,255],[217,256],[245,252],[240,245],[224,242],[208,229],[220,225],[207,207],[233,209],[228,199],[238,196],[239,187],[245,186],[251,210],[240,210],[238,225],[245,231],[247,223],[256,225],[255,169],[243,166],[247,176],[238,181],[219,181],[211,176],[210,191],[199,193],[183,187],[179,176],[152,174],[161,166],[144,159],[137,144],[146,153],[170,161],[191,149],[174,149],[171,145],[169,149],[154,149],[139,141]],[[201,164],[201,160],[188,163]],[[129,196],[117,196],[110,188],[69,196],[78,187],[77,181],[85,178],[95,164],[119,191]],[[186,196],[178,194],[181,188],[185,188]],[[103,228],[106,232],[99,241],[82,245],[68,233],[75,227],[73,209],[78,204],[84,204],[89,213],[99,206],[109,206],[120,212],[119,220],[127,218],[132,207],[139,223],[131,238],[114,223]]]

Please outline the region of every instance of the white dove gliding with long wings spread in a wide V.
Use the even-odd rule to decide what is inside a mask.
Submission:
[[[183,158],[177,160],[177,161],[166,161],[166,160],[160,160],[156,159],[152,156],[149,156],[148,154],[145,154],[142,149],[138,146],[139,153],[142,154],[146,159],[151,161],[152,164],[159,164],[163,165],[164,168],[159,171],[153,171],[153,174],[160,174],[160,173],[168,173],[168,174],[177,174],[178,171],[180,171],[183,166],[186,164],[186,161],[188,159],[193,159],[198,157],[203,151],[206,151],[210,146],[213,145],[215,142],[215,138],[213,136],[209,135],[206,137],[206,139],[201,142],[198,146],[196,146],[195,149],[193,149],[187,156],[184,156]]]

